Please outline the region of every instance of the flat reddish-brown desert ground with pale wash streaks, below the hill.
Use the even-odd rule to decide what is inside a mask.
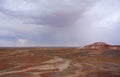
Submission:
[[[0,77],[120,77],[120,50],[0,48]]]

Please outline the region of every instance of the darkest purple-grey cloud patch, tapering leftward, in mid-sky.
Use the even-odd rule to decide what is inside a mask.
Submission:
[[[71,13],[71,12],[70,12]],[[28,22],[28,24],[42,24],[42,25],[50,25],[54,27],[65,27],[71,26],[74,22],[76,22],[80,14],[79,13],[55,13],[49,16],[44,16],[38,19],[35,19],[33,22]]]

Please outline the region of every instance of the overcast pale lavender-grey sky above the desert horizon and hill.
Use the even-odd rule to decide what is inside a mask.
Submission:
[[[0,0],[0,46],[120,45],[120,0]]]

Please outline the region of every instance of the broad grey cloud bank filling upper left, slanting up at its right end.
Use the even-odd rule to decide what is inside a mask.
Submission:
[[[51,26],[69,26],[77,21],[80,16],[90,8],[93,1],[82,0],[2,0],[1,12],[17,18],[30,21],[28,24],[42,24]],[[67,2],[67,3],[65,3]]]

